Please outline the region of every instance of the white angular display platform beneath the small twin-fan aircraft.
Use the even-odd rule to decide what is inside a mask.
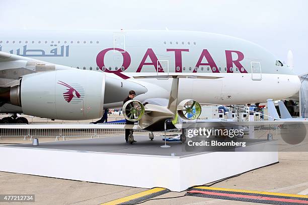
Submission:
[[[183,191],[278,162],[277,152],[182,152],[179,142],[160,148],[161,138],[149,141],[147,136],[136,136],[133,145],[123,143],[123,138],[0,146],[0,171]],[[276,141],[249,147],[265,146],[276,146]]]

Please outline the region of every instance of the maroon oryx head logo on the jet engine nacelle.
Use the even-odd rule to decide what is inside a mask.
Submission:
[[[60,80],[57,83],[66,87],[66,92],[63,92],[63,97],[67,102],[76,104],[83,100],[85,89],[80,84],[70,83],[71,85],[69,85]]]

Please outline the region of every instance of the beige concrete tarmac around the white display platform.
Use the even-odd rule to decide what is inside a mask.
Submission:
[[[71,139],[80,138],[70,138],[70,140]],[[54,141],[54,138],[42,137],[39,140],[40,142],[50,142]],[[29,140],[23,141],[23,138],[3,137],[3,139],[0,140],[0,146],[11,143],[18,144],[29,142]],[[132,173],[123,174],[127,174],[127,177],[138,177]],[[155,173],[149,173],[149,177],[151,174]],[[219,183],[215,183],[211,187],[273,191],[306,195],[308,194],[308,152],[281,151],[279,152],[279,163],[249,171],[234,178],[226,179]],[[147,189],[0,172],[0,194],[35,194],[35,202],[33,204],[100,204],[145,190]],[[178,197],[183,196],[185,193],[186,191],[169,192],[154,198]],[[0,204],[5,203],[0,202]],[[16,203],[10,202],[7,204]],[[24,202],[21,204],[32,203]],[[199,205],[260,203],[183,196],[178,198],[148,200],[141,204]]]

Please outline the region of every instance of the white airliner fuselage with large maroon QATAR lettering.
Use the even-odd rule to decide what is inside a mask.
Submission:
[[[299,89],[297,75],[264,48],[242,39],[188,31],[3,32],[0,50],[139,82],[136,99],[169,97],[171,79],[133,76],[196,75],[180,79],[179,98],[230,105],[282,99]],[[104,108],[121,107],[106,93]],[[123,96],[125,98],[125,96]]]

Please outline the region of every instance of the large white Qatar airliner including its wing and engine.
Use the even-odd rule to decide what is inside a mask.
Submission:
[[[50,119],[98,118],[130,89],[140,101],[169,97],[171,79],[133,76],[220,77],[181,78],[179,100],[221,105],[282,99],[300,86],[259,45],[205,32],[2,31],[0,51],[0,112]]]

